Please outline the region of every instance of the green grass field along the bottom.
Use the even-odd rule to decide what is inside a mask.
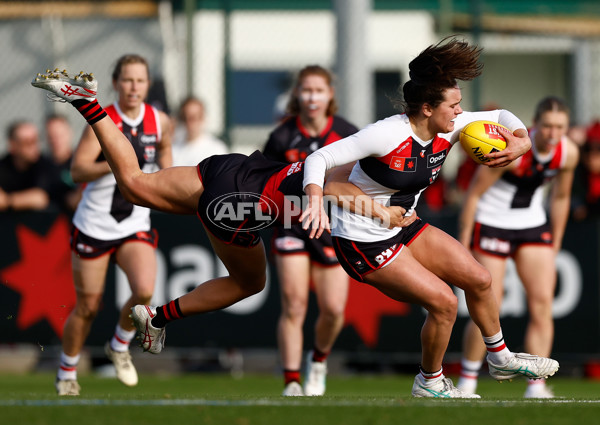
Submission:
[[[81,397],[57,397],[52,374],[0,376],[0,424],[599,424],[600,382],[554,378],[557,399],[523,400],[524,381],[482,379],[481,400],[410,397],[413,376],[328,379],[327,396],[279,396],[281,378],[221,374],[80,377]]]

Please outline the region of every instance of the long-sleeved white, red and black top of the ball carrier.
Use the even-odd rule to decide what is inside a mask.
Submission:
[[[412,214],[421,193],[439,177],[450,148],[458,141],[462,128],[477,120],[498,122],[509,130],[525,128],[505,110],[463,112],[455,119],[451,133],[421,140],[412,130],[408,117],[393,115],[325,146],[306,159],[304,187],[323,187],[325,170],[358,161],[349,182],[358,186],[376,202],[401,206]],[[358,242],[391,238],[402,229],[387,229],[375,220],[334,206],[331,210],[331,234]]]

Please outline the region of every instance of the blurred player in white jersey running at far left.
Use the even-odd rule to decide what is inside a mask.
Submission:
[[[144,103],[150,88],[148,63],[138,55],[118,59],[112,74],[118,100],[105,109],[133,147],[140,167],[153,171],[171,166],[170,120]],[[158,235],[151,228],[150,210],[125,200],[102,154],[98,139],[87,127],[75,150],[71,174],[85,183],[73,217],[71,234],[73,281],[77,300],[64,326],[56,389],[59,395],[79,395],[77,364],[102,301],[109,262],[127,275],[132,291],[123,305],[105,352],[125,385],[138,383],[129,344],[136,330],[129,314],[136,304],[148,304],[156,279]]]

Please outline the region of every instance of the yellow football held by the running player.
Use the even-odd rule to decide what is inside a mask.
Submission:
[[[506,140],[498,131],[500,127],[506,129],[493,121],[474,121],[460,132],[460,144],[475,162],[485,164],[489,159],[484,155],[499,152],[506,147]]]

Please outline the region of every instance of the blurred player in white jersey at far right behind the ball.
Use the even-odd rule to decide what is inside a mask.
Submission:
[[[569,109],[557,97],[542,99],[529,130],[532,149],[503,168],[479,167],[459,219],[459,240],[492,275],[498,303],[504,294],[506,260],[512,257],[527,296],[525,351],[549,356],[554,339],[552,301],[556,254],[569,217],[579,150],[566,134]],[[545,186],[552,184],[549,212]],[[474,393],[485,356],[481,332],[469,321],[464,333],[458,387]],[[530,380],[526,398],[551,398],[545,380]]]

